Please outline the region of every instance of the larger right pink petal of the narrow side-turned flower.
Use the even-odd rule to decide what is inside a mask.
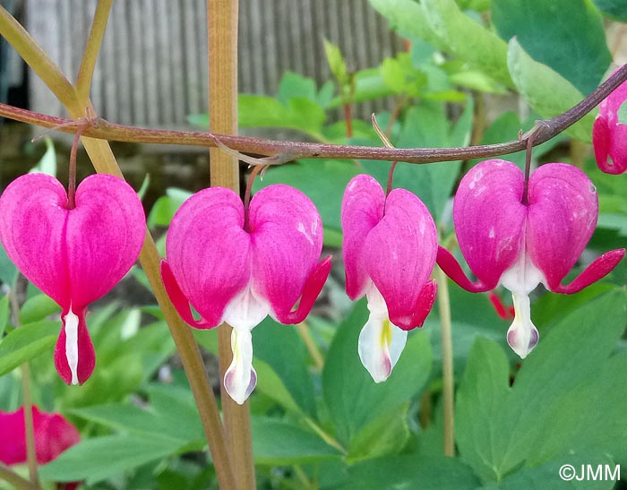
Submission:
[[[422,324],[433,304],[434,290],[423,289],[436,254],[437,232],[425,204],[405,189],[394,189],[385,215],[365,238],[360,261],[381,292],[391,322],[404,330]],[[428,307],[420,304],[424,300]]]

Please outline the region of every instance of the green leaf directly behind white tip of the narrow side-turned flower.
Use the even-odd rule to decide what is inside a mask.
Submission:
[[[410,334],[408,343],[385,383],[374,383],[357,354],[359,332],[368,310],[358,302],[339,325],[322,371],[322,392],[339,440],[349,446],[356,434],[386,409],[419,393],[431,370],[429,334]]]

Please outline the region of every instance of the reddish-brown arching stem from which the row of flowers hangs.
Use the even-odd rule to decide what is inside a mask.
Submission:
[[[2,9],[0,9],[0,14]],[[2,15],[0,15],[0,31],[2,31]],[[215,147],[216,138],[231,150],[262,156],[278,156],[277,165],[295,159],[368,159],[385,161],[403,161],[406,163],[434,163],[438,161],[455,161],[460,159],[487,159],[520,150],[526,150],[528,137],[534,133],[533,146],[537,146],[562,133],[574,125],[581,117],[586,116],[597,107],[603,99],[612,93],[621,83],[627,80],[627,64],[616,70],[606,82],[597,90],[581,100],[579,104],[556,116],[553,119],[544,119],[528,133],[521,135],[510,142],[484,144],[477,146],[455,148],[385,148],[372,146],[349,146],[315,142],[283,142],[255,138],[250,136],[236,136],[232,134],[209,133],[206,131],[174,131],[163,129],[145,129],[134,126],[117,125],[99,118],[93,127],[83,133],[90,138],[116,142],[164,143],[188,146]],[[57,127],[64,133],[75,133],[76,128],[71,120],[61,117],[46,116],[26,109],[0,104],[0,116],[16,121],[39,125],[42,127]],[[65,126],[64,126],[65,125]],[[213,126],[212,126],[213,127]]]

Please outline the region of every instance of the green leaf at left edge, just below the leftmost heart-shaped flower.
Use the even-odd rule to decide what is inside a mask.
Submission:
[[[0,341],[0,376],[46,351],[51,351],[59,326],[59,322],[28,323],[6,335]]]

